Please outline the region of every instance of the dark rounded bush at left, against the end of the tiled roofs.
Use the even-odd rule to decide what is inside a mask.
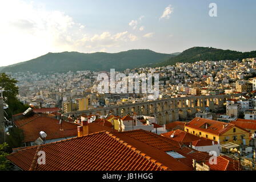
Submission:
[[[6,136],[6,141],[11,148],[23,147],[24,134],[22,129],[11,127],[9,128],[9,134]]]

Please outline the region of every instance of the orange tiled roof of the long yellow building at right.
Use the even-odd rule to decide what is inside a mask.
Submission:
[[[208,124],[210,126],[207,126],[207,129],[205,129],[205,125]],[[223,125],[225,126],[223,128]],[[226,133],[226,131],[233,128],[235,125],[231,123],[225,123],[220,121],[214,121],[211,119],[205,119],[205,118],[194,118],[189,123],[186,124],[187,127],[205,131],[207,133],[215,134],[215,135],[222,135],[223,133]]]

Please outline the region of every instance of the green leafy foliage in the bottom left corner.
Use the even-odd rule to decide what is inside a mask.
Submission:
[[[5,158],[8,154],[9,146],[7,143],[0,144],[0,171],[8,171],[11,169],[9,160]]]

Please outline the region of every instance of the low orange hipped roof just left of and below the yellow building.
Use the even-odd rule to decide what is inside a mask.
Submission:
[[[169,131],[167,133],[161,134],[163,137],[167,137],[171,140],[175,140],[177,142],[181,142],[183,144],[190,144],[191,142],[195,140],[199,140],[200,137],[197,137],[195,135],[192,135],[190,133],[187,133],[182,130],[174,130],[174,131]],[[173,135],[173,137],[171,137]]]

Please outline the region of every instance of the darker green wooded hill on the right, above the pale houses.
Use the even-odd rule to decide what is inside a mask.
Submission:
[[[186,49],[179,55],[171,57],[169,60],[157,63],[154,67],[174,65],[175,63],[194,63],[195,61],[219,61],[219,60],[242,60],[256,57],[256,51],[238,52],[209,47],[193,47]]]

